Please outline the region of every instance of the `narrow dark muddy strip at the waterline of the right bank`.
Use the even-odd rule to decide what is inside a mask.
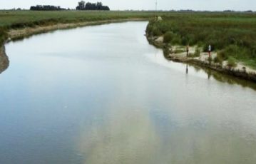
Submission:
[[[223,74],[241,78],[247,81],[256,82],[256,70],[252,70],[246,66],[240,66],[240,68],[230,68],[228,66],[222,66],[218,63],[214,63],[213,61],[209,62],[208,60],[202,60],[200,57],[193,58],[193,57],[186,57],[186,56],[178,56],[175,54],[173,55],[170,52],[170,46],[166,46],[165,43],[163,43],[163,39],[160,39],[160,37],[155,38],[155,37],[149,36],[148,34],[146,34],[146,37],[150,44],[152,44],[157,48],[163,49],[165,53],[164,56],[167,60],[175,61],[179,63],[190,63],[203,68],[210,68],[213,71],[217,71]]]

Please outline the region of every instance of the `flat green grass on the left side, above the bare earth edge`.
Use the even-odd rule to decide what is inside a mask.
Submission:
[[[168,13],[161,12],[160,15]],[[9,29],[113,19],[150,19],[153,11],[0,11],[0,45]]]

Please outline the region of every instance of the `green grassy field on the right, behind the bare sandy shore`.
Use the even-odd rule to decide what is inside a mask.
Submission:
[[[241,61],[256,68],[256,14],[183,13],[148,24],[150,36],[164,36],[169,45],[198,45],[217,51],[215,61]]]

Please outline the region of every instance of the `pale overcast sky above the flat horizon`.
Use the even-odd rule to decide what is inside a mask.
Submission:
[[[155,0],[98,0],[107,5],[111,10],[153,10],[155,9]],[[51,4],[64,8],[74,9],[78,0],[0,0],[0,9],[12,9],[21,7],[29,9],[36,4]],[[90,2],[96,2],[91,0]],[[210,10],[222,11],[226,9],[245,11],[256,11],[256,0],[158,0],[158,9],[162,10]]]

